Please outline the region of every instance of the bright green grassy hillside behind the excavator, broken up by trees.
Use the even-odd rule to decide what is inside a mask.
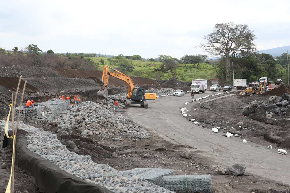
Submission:
[[[109,65],[112,68],[117,68],[117,66],[110,65],[107,61],[109,58],[106,57],[97,57],[91,58],[95,62],[99,62],[101,59],[105,61],[105,65]],[[168,80],[172,78],[170,72],[159,73],[158,75],[154,72],[155,69],[159,69],[161,62],[148,62],[148,61],[138,61],[131,60],[133,62],[133,66],[135,69],[132,72],[126,73],[128,76],[138,76],[144,78],[158,79],[160,77],[161,80]],[[102,65],[100,65],[102,67]],[[101,68],[100,68],[101,70]],[[178,65],[176,69],[175,78],[178,77],[178,80],[184,82],[191,82],[192,79],[212,79],[216,77],[215,69],[209,64],[201,64],[198,69],[195,68],[192,64],[186,65],[186,67],[182,65]]]

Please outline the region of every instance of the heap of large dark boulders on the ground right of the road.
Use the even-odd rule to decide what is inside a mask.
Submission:
[[[273,115],[286,115],[290,109],[290,94],[284,93],[280,96],[270,96],[269,104],[265,102],[253,101],[248,106],[244,107],[242,115],[248,116],[251,113],[259,112],[265,113],[267,118],[271,118]]]

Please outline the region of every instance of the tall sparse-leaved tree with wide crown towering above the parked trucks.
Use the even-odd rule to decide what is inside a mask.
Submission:
[[[230,58],[238,57],[239,54],[252,53],[256,51],[253,31],[249,30],[248,25],[229,23],[217,23],[213,32],[204,36],[206,43],[200,44],[202,48],[213,56],[226,57],[226,81],[231,78]]]

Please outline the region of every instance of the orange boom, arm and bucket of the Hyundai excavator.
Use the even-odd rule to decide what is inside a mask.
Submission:
[[[110,72],[109,71],[110,69],[114,70],[115,72]],[[117,71],[109,66],[104,66],[101,89],[97,92],[98,97],[108,99],[107,87],[108,87],[109,76],[113,76],[115,78],[118,78],[118,79],[126,82],[127,90],[128,90],[127,98],[132,97],[133,89],[135,87],[132,79],[129,76],[127,76],[126,74],[119,72],[119,71]]]

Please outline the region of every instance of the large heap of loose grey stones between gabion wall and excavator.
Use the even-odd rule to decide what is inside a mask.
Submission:
[[[122,140],[128,137],[132,140],[149,139],[150,133],[142,125],[129,118],[113,113],[113,102],[104,101],[102,104],[87,101],[79,106],[70,106],[55,117],[58,128],[68,134],[81,137],[100,137]],[[75,131],[75,132],[74,132]]]

